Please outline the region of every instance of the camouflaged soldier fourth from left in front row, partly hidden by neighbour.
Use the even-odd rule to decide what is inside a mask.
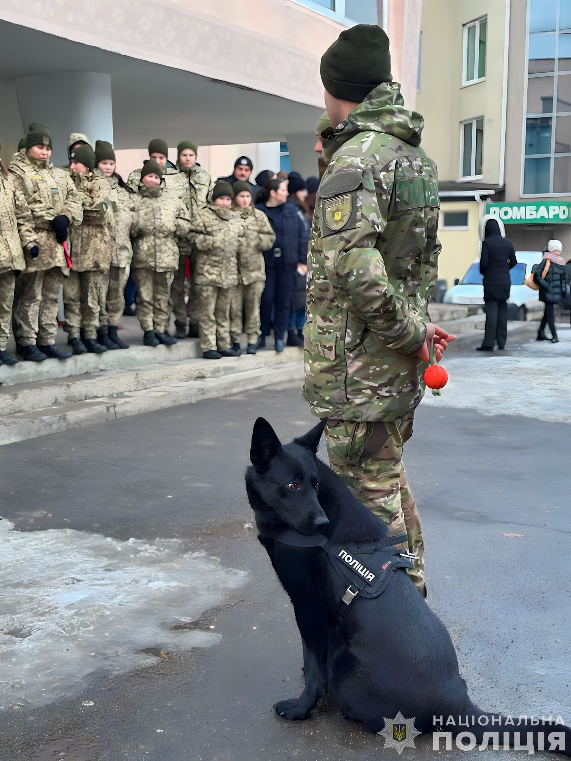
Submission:
[[[95,172],[107,177],[110,184],[110,213],[113,215],[111,231],[113,247],[109,269],[109,285],[104,303],[101,304],[100,326],[97,339],[107,349],[129,349],[117,333],[121,315],[125,310],[125,285],[128,279],[127,267],[132,260],[131,231],[135,222],[135,201],[132,189],[123,182],[115,171],[115,151],[104,140],[95,143]]]

